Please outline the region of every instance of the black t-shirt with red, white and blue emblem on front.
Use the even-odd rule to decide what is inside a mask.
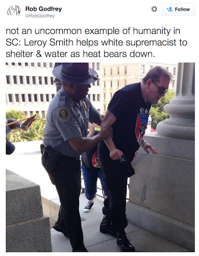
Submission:
[[[129,84],[114,93],[108,110],[114,114],[113,142],[132,161],[147,128],[150,102],[144,101],[140,83]]]

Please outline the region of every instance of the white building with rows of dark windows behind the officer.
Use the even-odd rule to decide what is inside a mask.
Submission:
[[[52,69],[55,63],[11,62],[6,63],[6,111],[14,109],[27,116],[46,117],[48,106],[57,92]],[[99,80],[91,84],[88,97],[101,112],[100,63],[90,63],[97,70]]]

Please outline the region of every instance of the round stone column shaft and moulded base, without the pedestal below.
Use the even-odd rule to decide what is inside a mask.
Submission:
[[[195,139],[195,63],[179,63],[176,96],[165,105],[170,116],[157,125],[159,135]]]

